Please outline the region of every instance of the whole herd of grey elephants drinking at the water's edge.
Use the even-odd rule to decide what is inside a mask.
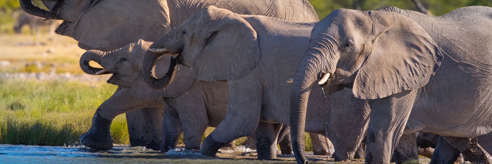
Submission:
[[[43,3],[20,0],[63,20],[56,33],[89,50],[82,70],[119,86],[81,135],[88,147],[111,149],[111,121],[126,113],[131,145],[162,152],[182,133],[207,156],[251,136],[258,159],[275,159],[278,142],[306,164],[306,131],[315,155],[336,161],[492,163],[491,7],[337,9],[320,21],[307,0]]]

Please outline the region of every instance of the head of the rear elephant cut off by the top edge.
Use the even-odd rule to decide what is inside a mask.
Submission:
[[[166,0],[43,0],[43,3],[50,11],[35,6],[31,0],[20,0],[24,11],[31,15],[62,19],[56,33],[73,37],[86,50],[114,50],[138,38],[155,40],[160,36],[155,33],[171,30]]]

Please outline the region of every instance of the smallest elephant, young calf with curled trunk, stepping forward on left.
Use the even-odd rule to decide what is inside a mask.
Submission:
[[[90,50],[84,53],[80,58],[80,66],[82,70],[89,74],[94,74],[90,66],[84,65],[87,61],[95,61],[105,67],[107,73],[112,73],[113,76],[108,80],[109,83],[118,85],[122,90],[115,93],[111,98],[104,101],[96,115],[103,118],[111,118],[112,120],[119,114],[139,109],[150,107],[165,107],[164,117],[162,118],[162,137],[163,151],[167,152],[176,147],[179,136],[184,132],[184,143],[187,149],[199,150],[202,136],[207,127],[217,127],[223,120],[226,112],[227,104],[227,86],[225,82],[208,82],[196,80],[193,86],[179,98],[149,98],[140,99],[130,95],[132,90],[145,91],[144,94],[160,94],[155,92],[165,92],[150,89],[143,81],[136,81],[140,75],[143,55],[152,42],[147,42],[142,39],[130,43],[118,50],[111,52],[102,52],[98,50]],[[156,75],[164,75],[169,67],[169,61],[166,58],[159,60],[158,67],[155,67]],[[172,86],[170,86],[172,87]],[[196,91],[196,92],[195,92]],[[226,94],[223,94],[226,93]],[[190,101],[193,100],[193,101]],[[166,101],[166,102],[164,102]],[[191,106],[191,107],[187,107]],[[105,110],[100,110],[105,109]],[[154,113],[162,115],[160,113]],[[95,121],[100,121],[94,119]],[[151,122],[144,124],[160,125],[159,122]],[[104,126],[104,127],[102,127]],[[110,149],[112,146],[111,135],[109,131],[109,122],[93,123],[93,129],[82,135],[81,142],[89,147],[98,149]],[[281,126],[281,125],[277,125]],[[283,135],[278,135],[280,142],[280,150],[282,154],[290,154],[292,151],[290,144],[290,134],[288,127],[282,127]],[[144,131],[147,131],[144,127]],[[149,131],[150,139],[149,147],[160,145],[161,134],[155,134],[154,131]],[[278,131],[277,131],[278,132]],[[319,145],[325,144],[319,138]],[[231,142],[227,146],[234,146]],[[261,154],[260,154],[261,156]]]

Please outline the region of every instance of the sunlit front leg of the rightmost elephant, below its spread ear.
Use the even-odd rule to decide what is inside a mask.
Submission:
[[[415,91],[369,100],[366,163],[389,164],[412,109]],[[416,152],[416,151],[415,151]]]

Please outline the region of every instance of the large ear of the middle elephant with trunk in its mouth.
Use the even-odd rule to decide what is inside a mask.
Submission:
[[[199,15],[201,14],[201,15]],[[197,14],[203,28],[211,29],[205,47],[194,55],[193,71],[201,80],[237,80],[260,60],[256,32],[229,10],[209,6]]]

